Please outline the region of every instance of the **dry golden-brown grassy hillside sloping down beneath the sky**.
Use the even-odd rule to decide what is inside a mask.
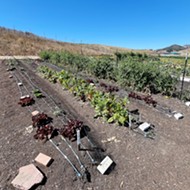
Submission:
[[[41,50],[67,50],[87,55],[113,54],[116,51],[132,51],[132,49],[97,44],[59,42],[39,37],[29,32],[0,27],[0,55],[38,55]],[[142,52],[143,50],[139,51]]]

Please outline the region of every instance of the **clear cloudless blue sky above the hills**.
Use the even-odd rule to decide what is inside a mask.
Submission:
[[[190,0],[0,0],[0,26],[133,49],[190,44]]]

